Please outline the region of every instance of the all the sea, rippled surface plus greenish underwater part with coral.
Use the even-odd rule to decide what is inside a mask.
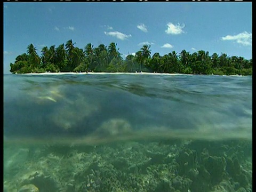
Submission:
[[[5,191],[252,191],[252,77],[4,75]]]

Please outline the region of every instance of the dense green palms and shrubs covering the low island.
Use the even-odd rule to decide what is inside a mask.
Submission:
[[[57,48],[43,47],[41,55],[37,54],[36,47],[30,44],[27,53],[19,55],[14,63],[10,64],[12,73],[44,73],[50,72],[156,72],[182,74],[215,74],[215,75],[252,75],[252,59],[232,56],[222,53],[209,55],[208,51],[189,53],[182,50],[180,54],[172,51],[161,56],[154,53],[151,57],[150,45],[125,59],[121,57],[115,43],[109,46],[100,44],[93,47],[91,43],[84,49],[74,46],[70,39],[66,44]]]

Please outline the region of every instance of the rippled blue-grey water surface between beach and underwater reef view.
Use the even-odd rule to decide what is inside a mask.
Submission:
[[[6,141],[251,139],[251,132],[251,76],[4,76]]]

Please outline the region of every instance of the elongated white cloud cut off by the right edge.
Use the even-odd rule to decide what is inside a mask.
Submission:
[[[227,35],[225,37],[221,37],[222,41],[235,41],[238,44],[244,46],[252,45],[252,33],[247,33],[244,31],[243,33],[239,33],[237,35]]]

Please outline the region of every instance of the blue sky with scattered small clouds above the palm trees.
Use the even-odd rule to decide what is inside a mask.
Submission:
[[[4,73],[33,43],[84,48],[117,43],[123,57],[151,45],[161,55],[183,49],[252,58],[252,3],[4,3]],[[153,54],[152,54],[153,55]]]

